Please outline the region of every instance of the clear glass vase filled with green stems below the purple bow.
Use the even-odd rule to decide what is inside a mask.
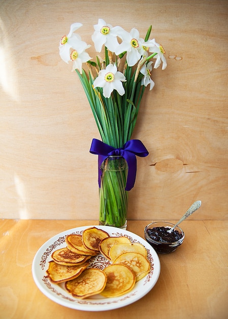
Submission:
[[[126,229],[128,166],[122,156],[109,156],[101,165],[99,224]]]

